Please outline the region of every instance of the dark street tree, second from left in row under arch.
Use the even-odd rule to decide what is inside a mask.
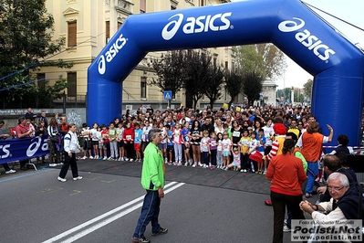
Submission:
[[[211,55],[203,50],[188,50],[185,63],[188,79],[185,80],[184,88],[192,95],[193,109],[196,110],[197,102],[203,98],[210,81]]]

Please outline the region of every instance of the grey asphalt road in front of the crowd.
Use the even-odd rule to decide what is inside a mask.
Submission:
[[[59,168],[0,175],[0,242],[131,242],[145,191],[141,164],[78,161],[80,181]],[[271,242],[273,208],[264,175],[167,166],[158,242]],[[315,200],[316,198],[312,198]],[[290,233],[285,233],[290,242]]]

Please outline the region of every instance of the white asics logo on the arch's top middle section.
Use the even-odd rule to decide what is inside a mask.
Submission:
[[[226,30],[230,25],[229,16],[232,16],[232,12],[224,14],[216,14],[214,16],[198,16],[198,17],[187,17],[186,23],[182,26],[183,15],[176,14],[171,16],[168,20],[172,20],[161,31],[161,37],[165,40],[170,40],[174,37],[177,31],[182,26],[184,34],[202,33],[208,31],[221,31]]]

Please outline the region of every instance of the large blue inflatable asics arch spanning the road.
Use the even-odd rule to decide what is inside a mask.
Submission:
[[[122,81],[150,51],[271,42],[315,77],[312,113],[359,144],[364,55],[297,0],[254,0],[129,16],[88,68],[88,122],[122,113]],[[336,144],[336,141],[333,141]]]

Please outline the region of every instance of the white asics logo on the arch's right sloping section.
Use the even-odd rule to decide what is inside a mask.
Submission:
[[[282,32],[294,32],[305,26],[305,21],[298,17],[293,17],[295,20],[285,20],[279,23],[278,29]],[[299,23],[297,23],[299,22]],[[328,45],[324,44],[322,40],[311,34],[308,29],[297,32],[296,40],[301,43],[304,47],[311,50],[317,58],[328,62],[328,58],[334,55],[336,52],[329,48]]]

